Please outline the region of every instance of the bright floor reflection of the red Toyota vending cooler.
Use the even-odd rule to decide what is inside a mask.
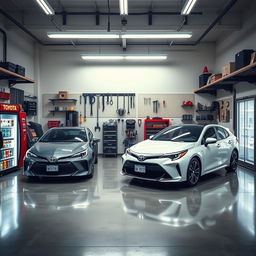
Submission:
[[[0,181],[0,236],[18,228],[17,176]]]

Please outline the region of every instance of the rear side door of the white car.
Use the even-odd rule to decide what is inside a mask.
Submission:
[[[219,145],[219,162],[220,165],[229,164],[231,151],[232,151],[232,143],[230,143],[230,136],[224,128],[216,126],[216,133],[218,138]],[[232,142],[232,141],[231,141]]]

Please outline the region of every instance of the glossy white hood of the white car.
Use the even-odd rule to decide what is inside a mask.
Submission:
[[[169,154],[187,150],[195,146],[193,142],[173,142],[145,140],[131,147],[131,151],[138,154]]]

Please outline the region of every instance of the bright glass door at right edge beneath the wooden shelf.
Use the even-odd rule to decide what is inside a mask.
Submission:
[[[255,100],[237,101],[237,137],[239,139],[239,160],[254,166],[254,118]]]

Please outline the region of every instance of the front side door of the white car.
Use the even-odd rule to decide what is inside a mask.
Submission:
[[[207,138],[215,138],[217,139],[217,134],[214,127],[209,127],[202,138],[201,141],[201,152],[202,152],[202,161],[203,161],[203,169],[202,174],[210,172],[212,169],[218,167],[219,156],[218,156],[218,144],[209,144],[205,146],[205,141]]]

